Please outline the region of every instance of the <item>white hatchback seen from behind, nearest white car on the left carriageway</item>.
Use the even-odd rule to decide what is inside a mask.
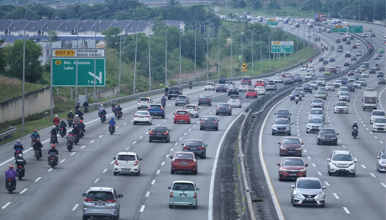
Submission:
[[[119,152],[117,157],[113,158],[114,162],[114,176],[118,173],[135,173],[135,176],[141,174],[142,158],[139,158],[133,152]]]

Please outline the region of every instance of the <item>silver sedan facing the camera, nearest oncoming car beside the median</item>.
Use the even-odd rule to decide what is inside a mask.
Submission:
[[[318,178],[300,177],[296,179],[295,185],[291,186],[291,203],[298,205],[317,205],[322,208],[325,206],[325,195]]]

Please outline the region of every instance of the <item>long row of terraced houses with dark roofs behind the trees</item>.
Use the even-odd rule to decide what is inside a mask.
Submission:
[[[170,20],[165,22],[166,25],[176,26],[179,30],[185,27],[181,24],[181,20]],[[76,35],[78,29],[79,36],[103,36],[102,31],[111,27],[122,27],[121,35],[130,35],[134,33],[144,33],[146,35],[153,35],[152,26],[153,20],[81,20],[78,26],[78,20],[53,20],[52,30],[56,31],[58,36]],[[96,25],[96,31],[95,31]],[[25,22],[25,36],[49,36],[51,29],[50,20],[26,20]],[[18,19],[0,19],[0,36],[23,36],[24,20]]]

